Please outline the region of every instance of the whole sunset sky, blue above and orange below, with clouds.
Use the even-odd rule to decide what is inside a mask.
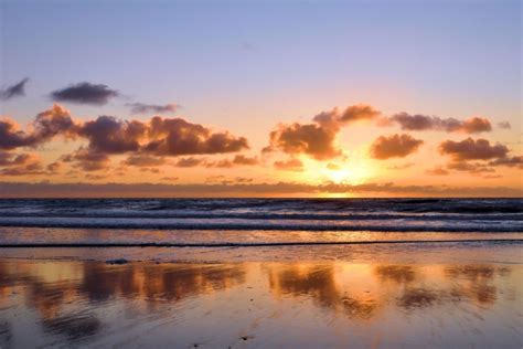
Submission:
[[[521,1],[0,2],[0,195],[521,197]]]

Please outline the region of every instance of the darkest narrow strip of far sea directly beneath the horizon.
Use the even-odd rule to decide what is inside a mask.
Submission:
[[[523,199],[2,199],[28,212],[523,213]]]

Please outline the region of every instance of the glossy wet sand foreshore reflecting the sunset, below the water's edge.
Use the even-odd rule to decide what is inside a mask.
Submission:
[[[2,248],[0,347],[521,348],[522,260],[509,243]]]

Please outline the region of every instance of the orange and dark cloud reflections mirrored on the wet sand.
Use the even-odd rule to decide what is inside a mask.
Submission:
[[[249,324],[246,314],[257,311],[253,321],[258,324],[270,318],[270,311],[291,304],[308,314],[349,321],[346,329],[357,324],[387,324],[391,314],[396,319],[403,314],[407,321],[463,308],[489,316],[503,290],[504,306],[521,302],[514,267],[324,262],[107,265],[4,260],[0,261],[0,309],[15,317],[2,317],[0,345],[19,342],[13,329],[20,325],[17,318],[32,316],[40,324],[36,340],[51,337],[71,343],[104,343],[119,326],[125,328],[120,322],[136,326],[151,318],[161,319],[166,338],[171,327],[198,322],[198,316],[200,322],[212,324],[227,317],[227,326],[242,328]],[[124,310],[118,313],[118,306]]]

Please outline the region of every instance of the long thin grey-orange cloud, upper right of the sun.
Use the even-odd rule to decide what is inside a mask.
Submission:
[[[492,130],[487,118],[471,117],[463,121],[427,115],[398,113],[382,120],[382,125],[398,124],[404,130],[442,130],[447,133],[477,134]]]

